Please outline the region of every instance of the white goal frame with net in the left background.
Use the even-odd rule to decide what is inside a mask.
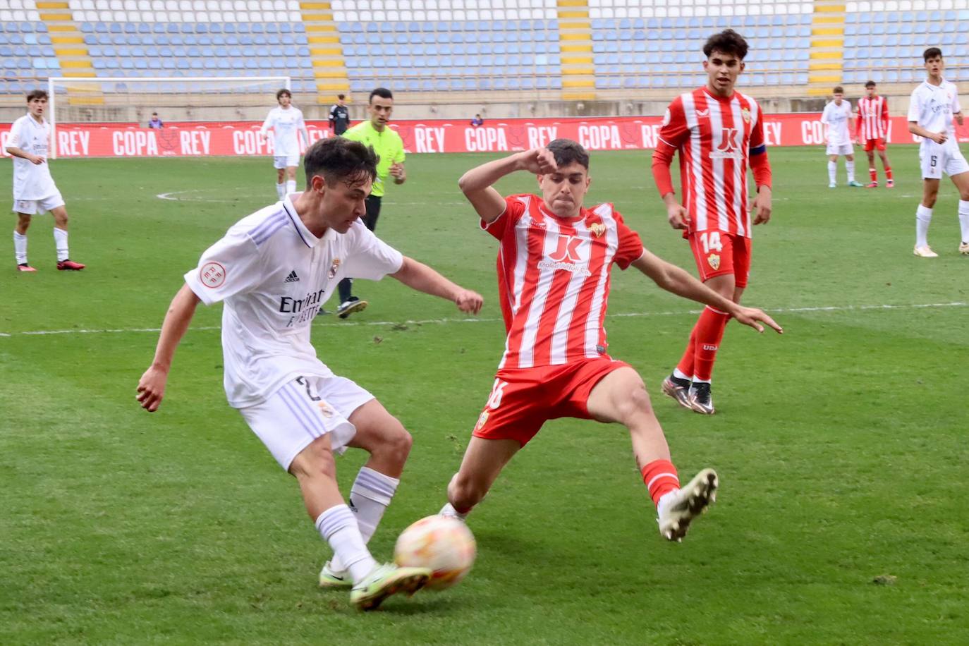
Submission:
[[[51,77],[47,120],[53,140],[58,123],[144,126],[152,112],[163,122],[262,120],[282,88],[293,91],[291,77]]]

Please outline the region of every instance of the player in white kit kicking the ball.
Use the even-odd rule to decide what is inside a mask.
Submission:
[[[351,588],[361,609],[397,592],[413,593],[430,569],[378,565],[366,548],[391,503],[411,436],[359,385],[334,375],[310,343],[310,323],[346,276],[404,285],[452,300],[477,314],[482,297],[406,258],[359,218],[376,176],[371,148],[346,138],[321,139],[306,151],[307,189],[236,223],[185,274],[162,324],[138,400],[156,411],[172,355],[199,302],[223,301],[222,349],[230,406],[297,478],[303,501],[333,559],[325,587]],[[353,446],[370,453],[348,507],[336,484],[333,454]]]

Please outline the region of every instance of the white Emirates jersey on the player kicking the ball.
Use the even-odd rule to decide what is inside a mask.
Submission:
[[[403,256],[361,221],[315,237],[292,198],[237,222],[205,250],[185,282],[206,305],[225,302],[222,352],[226,396],[243,408],[266,401],[297,377],[331,377],[310,343],[310,323],[337,283],[380,280]]]

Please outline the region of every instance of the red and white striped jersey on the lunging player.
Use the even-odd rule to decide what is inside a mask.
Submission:
[[[610,268],[625,269],[643,252],[612,204],[565,220],[538,196],[509,196],[505,212],[482,228],[501,241],[498,292],[508,338],[499,368],[608,356]]]

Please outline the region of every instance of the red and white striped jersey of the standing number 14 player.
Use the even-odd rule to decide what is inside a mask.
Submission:
[[[751,150],[763,152],[765,144],[761,108],[745,94],[720,98],[701,87],[673,99],[657,152],[672,158],[679,151],[690,231],[750,237],[747,166]]]

